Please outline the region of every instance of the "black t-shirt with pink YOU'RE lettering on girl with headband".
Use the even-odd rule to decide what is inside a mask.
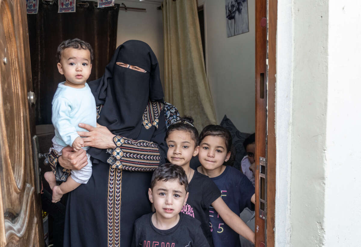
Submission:
[[[188,185],[188,200],[181,212],[191,215],[201,222],[201,228],[210,246],[213,246],[209,221],[209,206],[221,196],[216,184],[208,176],[194,171],[193,178]]]

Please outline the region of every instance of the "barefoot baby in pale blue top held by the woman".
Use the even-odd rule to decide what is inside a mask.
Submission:
[[[58,70],[65,76],[65,82],[58,84],[52,101],[52,122],[55,127],[53,149],[61,155],[66,146],[79,151],[84,147],[82,138],[77,131],[84,131],[78,127],[79,123],[86,123],[96,127],[95,99],[86,83],[91,72],[93,50],[89,43],[74,38],[61,42],[57,50]],[[72,170],[66,182],[56,185],[53,172],[44,174],[45,179],[53,190],[52,202],[60,201],[65,193],[87,183],[92,174],[90,155],[87,154],[88,164],[81,170]]]

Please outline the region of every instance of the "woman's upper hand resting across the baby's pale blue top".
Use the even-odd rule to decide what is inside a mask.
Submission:
[[[84,147],[96,147],[100,149],[115,148],[116,145],[113,142],[114,134],[108,130],[108,128],[96,124],[96,128],[84,123],[79,123],[79,127],[86,129],[86,131],[78,131],[79,136],[83,138]]]

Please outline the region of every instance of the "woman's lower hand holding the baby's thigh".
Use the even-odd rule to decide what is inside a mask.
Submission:
[[[58,158],[59,164],[69,170],[80,170],[88,164],[87,153],[83,148],[79,151],[73,151],[73,148],[68,146],[62,150],[62,155]]]

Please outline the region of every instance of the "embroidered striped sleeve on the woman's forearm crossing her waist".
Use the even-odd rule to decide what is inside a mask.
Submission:
[[[107,162],[112,168],[129,171],[153,171],[161,160],[159,146],[154,142],[114,136],[115,148],[108,148]]]

